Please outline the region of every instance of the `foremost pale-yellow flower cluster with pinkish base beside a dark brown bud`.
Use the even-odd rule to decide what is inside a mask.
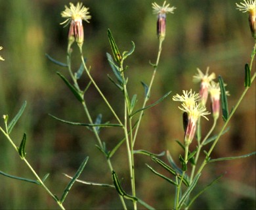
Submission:
[[[196,123],[199,117],[205,117],[210,114],[206,111],[206,108],[203,104],[198,104],[200,96],[198,93],[192,93],[188,91],[182,91],[184,96],[176,95],[173,96],[173,100],[182,102],[179,107],[185,115],[183,115],[183,123],[185,129],[184,142],[186,145],[189,145],[196,132]],[[207,119],[207,117],[205,117]]]

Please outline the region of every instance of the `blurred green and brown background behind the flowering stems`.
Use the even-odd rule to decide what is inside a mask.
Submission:
[[[26,132],[27,159],[38,174],[50,173],[47,186],[60,196],[68,179],[62,173],[74,175],[85,156],[89,162],[80,179],[111,183],[110,171],[104,156],[95,147],[95,137],[84,127],[62,124],[48,114],[70,121],[87,122],[85,114],[61,81],[56,71],[68,76],[65,69],[51,63],[45,53],[66,62],[66,36],[68,28],[60,26],[64,19],[60,12],[70,1],[60,0],[0,0],[0,52],[5,58],[0,66],[0,116],[13,117],[24,100],[28,106],[12,131],[16,144]],[[89,7],[91,23],[83,23],[85,44],[83,51],[88,66],[98,85],[121,116],[121,93],[109,81],[112,74],[106,60],[111,53],[106,30],[110,28],[120,51],[131,49],[135,53],[127,59],[129,66],[129,91],[137,93],[142,103],[143,89],[140,81],[149,83],[158,51],[156,15],[152,14],[152,1],[104,0],[82,1]],[[167,32],[163,43],[160,65],[150,102],[158,100],[167,91],[181,94],[199,85],[192,83],[196,68],[222,75],[230,92],[228,102],[234,106],[244,89],[244,64],[249,62],[253,38],[249,31],[247,14],[236,10],[233,0],[168,1],[177,7],[175,14],[167,15]],[[76,1],[73,2],[76,4]],[[162,5],[163,1],[156,1]],[[74,67],[79,68],[77,47],[74,47]],[[77,62],[76,62],[77,61]],[[77,65],[77,66],[75,66]],[[253,64],[255,69],[255,62]],[[83,87],[87,77],[81,79]],[[85,96],[92,116],[103,114],[103,121],[115,122],[93,86]],[[145,112],[135,149],[159,153],[169,150],[178,162],[181,148],[175,139],[182,140],[181,112],[171,96],[158,106]],[[209,104],[207,104],[209,107]],[[203,120],[203,133],[212,120]],[[223,125],[215,129],[217,133]],[[3,121],[1,122],[3,125]],[[101,136],[108,148],[122,137],[121,129],[102,129]],[[0,135],[0,170],[11,175],[34,179],[7,139]],[[194,147],[195,145],[192,145]],[[255,82],[230,121],[230,130],[215,148],[213,158],[240,156],[255,151]],[[150,158],[136,156],[137,196],[157,209],[171,208],[174,187],[153,175],[145,163],[162,171]],[[202,157],[203,158],[203,157]],[[166,161],[165,158],[163,158]],[[112,159],[123,188],[129,188],[129,172],[125,145]],[[207,190],[194,205],[194,209],[255,209],[255,157],[236,161],[211,163],[205,167],[196,191],[212,179],[226,173],[215,186]],[[43,188],[0,177],[0,209],[56,209],[57,205]],[[129,201],[128,201],[129,203]],[[120,209],[121,203],[115,190],[75,183],[66,199],[67,209]]]

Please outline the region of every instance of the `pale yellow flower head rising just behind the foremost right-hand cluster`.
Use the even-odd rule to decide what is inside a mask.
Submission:
[[[208,74],[209,67],[207,67],[207,70],[205,74],[201,72],[199,68],[197,68],[198,74],[194,75],[193,80],[194,82],[200,82],[200,91],[199,95],[201,96],[201,102],[203,105],[206,104],[207,98],[208,98],[208,88],[210,85],[210,82],[215,79],[215,74],[211,73],[210,75]]]

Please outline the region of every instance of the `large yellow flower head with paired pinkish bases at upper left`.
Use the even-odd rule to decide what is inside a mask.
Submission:
[[[83,45],[83,24],[82,20],[89,22],[91,15],[89,15],[89,8],[84,7],[82,3],[77,3],[76,7],[70,3],[70,8],[65,5],[65,11],[61,12],[62,18],[67,18],[61,24],[70,24],[70,30],[68,32],[69,44],[71,45],[75,41],[77,45],[81,47]]]

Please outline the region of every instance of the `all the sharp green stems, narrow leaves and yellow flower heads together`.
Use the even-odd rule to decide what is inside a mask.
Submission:
[[[249,12],[249,27],[253,38],[255,39],[255,7],[256,1],[245,1],[244,3],[236,4],[237,9],[244,12]],[[181,105],[178,106],[179,110],[181,110],[181,116],[183,119],[183,128],[184,128],[184,140],[177,140],[179,146],[182,148],[182,153],[179,155],[179,164],[175,162],[175,158],[172,156],[172,151],[167,150],[167,152],[161,152],[160,154],[154,154],[153,152],[149,152],[147,150],[137,150],[137,144],[140,141],[139,131],[142,124],[142,118],[145,114],[145,111],[160,104],[163,100],[166,100],[171,95],[171,91],[168,91],[165,95],[161,96],[158,100],[153,103],[150,103],[150,97],[152,96],[152,88],[154,87],[154,81],[156,77],[156,73],[158,72],[158,67],[160,64],[160,57],[162,48],[165,47],[163,45],[163,41],[165,41],[166,35],[166,18],[167,13],[174,14],[175,7],[169,7],[169,4],[166,4],[166,1],[163,2],[163,5],[160,6],[157,3],[152,3],[153,13],[157,14],[157,37],[158,37],[158,53],[156,56],[156,62],[150,62],[150,66],[152,67],[152,77],[150,81],[147,83],[142,82],[142,87],[144,89],[144,95],[142,98],[139,98],[137,94],[131,94],[129,91],[129,79],[127,72],[129,71],[128,66],[125,66],[125,62],[127,62],[127,58],[130,58],[135,51],[135,43],[131,42],[131,49],[128,51],[124,51],[121,53],[119,51],[119,46],[117,45],[116,40],[114,39],[114,35],[110,29],[107,30],[108,41],[110,43],[109,51],[112,53],[106,53],[106,58],[109,64],[109,69],[112,70],[112,75],[108,75],[108,79],[110,82],[116,87],[116,90],[122,95],[122,98],[118,98],[118,100],[123,101],[123,108],[120,114],[120,110],[116,110],[114,106],[109,102],[108,97],[104,94],[104,91],[98,84],[95,79],[95,72],[93,72],[93,66],[88,67],[87,58],[83,55],[83,44],[84,40],[84,30],[83,30],[83,20],[89,23],[89,20],[93,19],[91,11],[89,12],[89,8],[83,6],[82,3],[77,3],[74,5],[70,3],[70,7],[65,6],[65,10],[61,12],[62,18],[67,18],[61,24],[66,24],[69,26],[68,30],[68,43],[67,43],[67,58],[66,62],[59,62],[55,60],[51,56],[47,54],[47,58],[51,60],[54,64],[61,66],[61,68],[68,69],[68,75],[57,72],[60,79],[64,82],[64,84],[68,87],[70,92],[75,96],[76,100],[81,104],[81,108],[86,116],[86,122],[79,123],[76,121],[69,121],[67,119],[62,119],[60,117],[56,117],[55,115],[51,115],[58,122],[66,123],[68,125],[82,126],[87,127],[89,131],[91,131],[96,140],[96,148],[101,152],[102,156],[106,161],[106,165],[108,166],[108,173],[106,174],[111,179],[111,183],[98,183],[98,182],[88,182],[86,180],[80,180],[79,176],[85,170],[87,162],[89,162],[89,157],[86,156],[81,165],[78,167],[77,172],[74,176],[70,176],[67,173],[64,173],[65,178],[68,177],[70,182],[68,182],[64,192],[60,197],[56,196],[49,190],[49,188],[45,184],[45,180],[49,177],[49,173],[45,175],[45,177],[41,178],[33,169],[30,162],[26,159],[26,134],[23,135],[22,141],[19,146],[16,146],[14,140],[10,136],[12,129],[16,125],[17,121],[22,116],[25,108],[26,102],[22,105],[19,112],[14,116],[11,121],[9,121],[9,116],[4,115],[4,127],[0,127],[1,133],[9,140],[14,150],[18,152],[18,155],[24,161],[24,163],[28,166],[28,168],[32,171],[36,180],[33,179],[25,179],[23,177],[16,177],[13,175],[9,175],[0,171],[1,175],[5,177],[9,177],[16,180],[23,180],[26,182],[30,182],[33,184],[37,184],[42,186],[46,192],[56,201],[56,204],[60,207],[60,209],[65,209],[64,201],[70,192],[70,189],[75,184],[75,182],[80,182],[85,185],[93,185],[93,186],[102,186],[108,187],[111,189],[115,189],[117,192],[117,197],[119,198],[118,207],[123,207],[123,209],[154,209],[152,203],[150,201],[144,200],[141,198],[143,195],[137,192],[137,182],[136,178],[139,175],[136,171],[136,158],[137,155],[144,155],[150,158],[150,161],[154,161],[156,163],[156,167],[152,167],[150,163],[146,163],[148,167],[148,173],[153,173],[156,177],[160,177],[163,181],[167,181],[170,186],[174,187],[175,196],[173,198],[173,203],[169,205],[173,209],[189,209],[196,199],[207,190],[211,185],[215,184],[217,180],[219,180],[223,175],[219,175],[219,177],[209,181],[208,185],[205,188],[200,189],[199,192],[196,192],[196,186],[198,186],[198,181],[200,180],[200,176],[203,173],[203,169],[205,169],[205,165],[215,161],[224,161],[229,159],[239,159],[246,158],[248,156],[255,155],[255,152],[250,154],[245,154],[242,156],[234,156],[234,157],[225,157],[225,158],[212,158],[211,154],[215,149],[215,146],[219,139],[226,132],[226,127],[231,119],[231,117],[235,114],[240,102],[244,99],[245,94],[250,89],[251,84],[255,80],[256,73],[253,72],[253,60],[255,60],[256,54],[256,42],[253,46],[253,51],[251,53],[251,62],[249,64],[245,64],[245,79],[244,79],[244,90],[240,99],[230,111],[228,109],[228,91],[226,91],[226,85],[224,84],[223,77],[219,75],[216,79],[215,73],[209,74],[209,68],[207,68],[205,74],[198,68],[198,74],[194,75],[194,81],[196,83],[200,83],[200,91],[196,93],[190,89],[182,90],[182,95],[176,94],[173,95],[173,101],[181,102]],[[176,12],[176,11],[175,11]],[[255,39],[256,41],[256,39]],[[74,54],[75,47],[79,49],[79,58],[81,66],[75,71],[72,66],[72,59]],[[2,47],[0,47],[0,50]],[[4,60],[0,56],[0,60]],[[83,75],[86,74],[88,81],[81,81]],[[253,74],[253,75],[251,75]],[[85,84],[86,83],[86,84]],[[85,86],[85,87],[84,87]],[[108,108],[110,114],[114,117],[114,123],[112,122],[104,122],[104,117],[102,114],[98,114],[96,117],[93,117],[93,114],[90,110],[90,100],[87,100],[87,93],[92,87],[96,89],[97,93],[102,98],[103,104],[105,104]],[[209,96],[209,97],[208,97]],[[207,107],[207,101],[211,101],[211,108]],[[142,101],[141,106],[139,106],[138,101]],[[178,110],[178,109],[177,109]],[[211,110],[211,112],[210,112]],[[221,116],[224,121],[224,125],[221,127],[221,130],[217,135],[212,135],[213,131],[216,129],[217,121],[219,120],[219,116]],[[206,135],[203,135],[202,130],[202,119],[203,120],[213,120],[213,125],[207,131]],[[111,150],[109,150],[110,146],[107,146],[107,143],[104,142],[104,136],[101,135],[100,131],[102,129],[116,129],[118,132],[121,132],[123,138],[119,139],[117,144],[112,146]],[[207,147],[209,146],[209,148]],[[119,159],[118,151],[121,150],[122,147],[125,147],[127,153],[127,159],[122,160],[123,163],[127,161],[127,165],[129,168],[129,180],[121,180],[121,171],[118,170],[118,166],[113,163],[114,159]],[[204,149],[204,155],[202,154],[202,150]],[[163,160],[163,156],[166,155],[167,163]],[[200,156],[203,157],[203,160],[200,160]],[[100,169],[100,167],[98,167]],[[165,175],[159,171],[165,171],[168,175]],[[129,184],[127,184],[127,182]],[[129,187],[127,187],[127,185]],[[130,206],[129,201],[131,201],[132,206]]]

